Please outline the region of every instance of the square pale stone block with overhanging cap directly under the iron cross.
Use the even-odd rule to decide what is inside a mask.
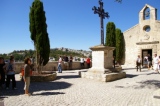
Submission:
[[[92,68],[88,71],[105,73],[105,71],[112,69],[115,47],[98,45],[90,49],[92,50]]]

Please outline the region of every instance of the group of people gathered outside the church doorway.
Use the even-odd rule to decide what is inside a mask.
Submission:
[[[142,60],[140,55],[138,55],[138,58],[136,60],[137,71],[139,69],[141,72],[142,61],[144,62],[144,65],[148,67],[148,70],[153,68],[157,73],[159,73],[158,70],[160,69],[160,56],[158,57],[157,54],[154,54],[154,57],[152,58],[151,55],[148,54]]]

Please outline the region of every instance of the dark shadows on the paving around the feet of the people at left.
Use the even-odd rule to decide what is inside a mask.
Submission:
[[[10,89],[1,89],[0,91],[0,97],[6,98],[7,96],[17,96],[17,95],[22,95],[24,94],[24,82],[23,81],[17,81],[16,82],[17,89],[12,90],[11,85]],[[67,82],[31,82],[30,84],[30,92],[36,92],[36,91],[50,91],[50,90],[58,90],[58,89],[66,89],[69,88],[72,84],[67,83]],[[63,93],[58,93],[58,92],[42,92],[42,95],[49,95],[49,94],[63,94]],[[39,94],[40,95],[40,94]]]

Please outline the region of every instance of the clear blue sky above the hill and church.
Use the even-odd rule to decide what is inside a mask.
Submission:
[[[47,18],[47,32],[50,47],[66,47],[90,50],[100,44],[100,18],[92,7],[98,7],[98,0],[41,0]],[[29,11],[33,0],[0,0],[0,53],[13,50],[34,49],[30,39]],[[149,4],[158,9],[160,20],[160,0],[103,0],[104,9],[123,31],[138,24],[139,11]],[[105,33],[105,32],[104,32]]]

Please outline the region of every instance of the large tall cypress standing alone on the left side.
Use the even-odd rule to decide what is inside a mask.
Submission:
[[[34,42],[36,50],[37,69],[40,72],[40,66],[44,66],[49,61],[50,41],[47,33],[47,24],[43,3],[40,0],[34,0],[29,13],[31,39]]]

